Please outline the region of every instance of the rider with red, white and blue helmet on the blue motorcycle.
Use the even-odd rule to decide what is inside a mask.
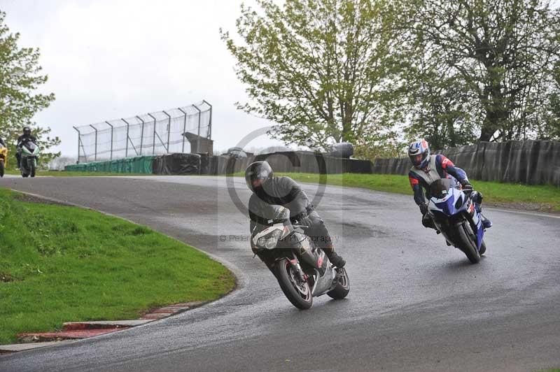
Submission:
[[[428,203],[424,198],[422,188],[426,189],[426,196],[430,198],[430,184],[441,178],[451,178],[461,184],[463,190],[472,192],[472,200],[475,202],[475,208],[480,212],[482,207],[482,194],[472,191],[472,185],[468,181],[467,173],[463,169],[455,166],[451,160],[444,155],[430,155],[430,147],[426,140],[416,141],[409,145],[408,157],[412,162],[412,167],[408,173],[410,186],[414,191],[414,201],[420,207],[422,213],[422,224],[425,227],[435,229],[433,220],[428,217]],[[481,213],[482,226],[484,229],[492,227],[492,222],[484,217]]]

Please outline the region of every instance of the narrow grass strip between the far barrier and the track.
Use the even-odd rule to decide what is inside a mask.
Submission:
[[[294,180],[318,183],[318,174],[281,173]],[[393,174],[342,173],[326,175],[328,185],[361,187],[384,192],[407,194],[412,198],[412,189],[407,176]],[[471,180],[472,186],[484,194],[484,204],[505,208],[540,210],[560,213],[560,187],[552,185],[519,185]]]

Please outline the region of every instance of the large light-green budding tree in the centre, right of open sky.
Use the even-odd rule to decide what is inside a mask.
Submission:
[[[377,146],[393,137],[402,89],[395,3],[257,3],[257,10],[241,6],[237,40],[221,30],[250,97],[238,108],[279,123],[271,132],[276,138],[320,150],[342,141]]]

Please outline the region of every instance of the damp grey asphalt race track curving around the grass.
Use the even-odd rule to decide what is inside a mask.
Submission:
[[[146,224],[227,262],[232,294],[0,371],[537,371],[560,366],[560,219],[488,208],[477,265],[421,226],[412,196],[327,187],[318,212],[347,261],[347,299],[294,308],[253,259],[225,178],[6,178],[0,186]],[[239,197],[249,192],[235,178]],[[308,194],[316,185],[305,185]],[[196,273],[193,273],[196,275]],[[141,290],[141,288],[139,288]]]

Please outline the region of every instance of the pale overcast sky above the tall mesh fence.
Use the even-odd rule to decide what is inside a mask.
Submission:
[[[252,1],[244,1],[252,3]],[[62,139],[63,155],[76,155],[80,126],[186,106],[214,106],[214,148],[236,145],[269,125],[234,106],[246,100],[235,59],[218,29],[235,33],[238,0],[0,0],[20,46],[38,47],[56,94],[36,122]],[[250,146],[278,144],[260,138]]]

